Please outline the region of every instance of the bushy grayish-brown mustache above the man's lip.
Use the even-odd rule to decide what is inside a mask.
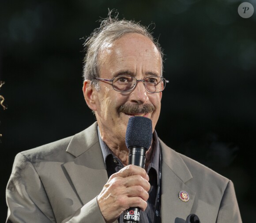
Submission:
[[[120,106],[119,111],[136,114],[136,113],[151,113],[155,110],[153,104],[123,104]]]

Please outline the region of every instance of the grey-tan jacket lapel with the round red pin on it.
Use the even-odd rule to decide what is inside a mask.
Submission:
[[[188,167],[177,154],[161,141],[162,149],[162,222],[184,223],[190,214],[196,193],[186,182],[192,178]],[[179,198],[180,191],[186,191],[189,201]]]

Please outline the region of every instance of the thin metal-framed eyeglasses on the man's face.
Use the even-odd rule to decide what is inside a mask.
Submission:
[[[143,82],[145,89],[151,93],[161,92],[165,89],[168,80],[162,77],[147,77],[144,80],[137,80],[132,76],[117,76],[113,79],[95,78],[101,81],[112,82],[113,89],[120,92],[132,91],[139,81]]]

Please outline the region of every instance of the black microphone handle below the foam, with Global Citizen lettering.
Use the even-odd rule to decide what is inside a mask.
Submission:
[[[147,149],[140,146],[129,147],[129,164],[144,168]],[[124,211],[125,223],[139,223],[140,208],[129,208]]]

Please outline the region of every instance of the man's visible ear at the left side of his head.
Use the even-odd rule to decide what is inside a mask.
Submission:
[[[90,80],[85,80],[83,82],[83,96],[86,101],[86,104],[93,111],[96,111],[96,94],[97,92],[95,88],[90,84]]]

